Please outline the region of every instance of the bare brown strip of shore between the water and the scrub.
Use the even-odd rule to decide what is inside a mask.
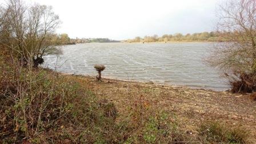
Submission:
[[[194,133],[197,133],[201,121],[218,120],[244,127],[256,142],[256,101],[251,101],[249,95],[114,79],[96,82],[92,77],[70,78],[94,91],[98,97],[113,101],[119,111],[119,118],[125,117],[129,107],[140,99],[153,109],[177,114],[186,129]]]

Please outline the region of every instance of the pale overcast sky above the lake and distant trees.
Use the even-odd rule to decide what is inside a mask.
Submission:
[[[1,1],[1,0],[0,0]],[[71,38],[127,39],[214,30],[218,0],[25,0],[51,5]]]

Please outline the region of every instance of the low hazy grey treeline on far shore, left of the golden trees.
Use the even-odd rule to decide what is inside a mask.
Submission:
[[[72,43],[90,43],[90,42],[120,42],[116,40],[111,40],[109,38],[76,38],[71,39]]]

